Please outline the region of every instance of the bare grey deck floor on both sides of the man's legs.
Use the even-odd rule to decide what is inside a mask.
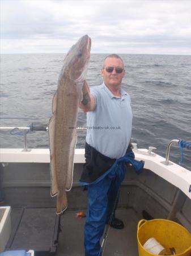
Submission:
[[[59,235],[57,256],[84,256],[83,227],[86,218],[77,218],[78,211],[67,210],[61,217],[62,232]],[[124,221],[125,228],[110,228],[104,256],[138,256],[138,215],[133,209],[118,209],[116,217]]]

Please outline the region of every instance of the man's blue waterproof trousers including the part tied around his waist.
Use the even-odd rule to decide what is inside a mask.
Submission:
[[[88,208],[84,226],[85,256],[101,256],[100,238],[104,233],[105,223],[109,221],[115,210],[114,207],[117,208],[118,189],[124,180],[126,171],[125,162],[131,162],[137,172],[144,165],[143,161],[134,160],[133,157],[133,152],[130,152],[117,159],[104,175],[93,183],[86,184]]]

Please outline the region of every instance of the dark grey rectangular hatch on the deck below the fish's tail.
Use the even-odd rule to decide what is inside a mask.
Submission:
[[[35,256],[55,254],[60,215],[55,208],[22,208],[6,250],[34,250]]]

